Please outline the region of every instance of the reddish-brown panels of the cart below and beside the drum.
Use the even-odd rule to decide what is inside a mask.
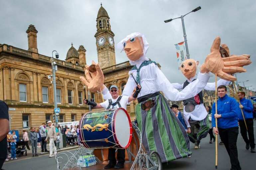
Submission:
[[[132,139],[131,139],[129,147],[126,148],[125,160],[126,161],[134,161],[135,158],[133,157],[133,155],[135,157],[137,156],[139,147],[140,147],[139,137],[138,137],[136,131],[134,130],[134,128],[132,127]],[[131,153],[133,155],[128,150],[131,151]],[[93,153],[99,160],[108,161],[108,149],[107,148],[94,149]],[[116,156],[117,156],[117,152],[116,152]]]

